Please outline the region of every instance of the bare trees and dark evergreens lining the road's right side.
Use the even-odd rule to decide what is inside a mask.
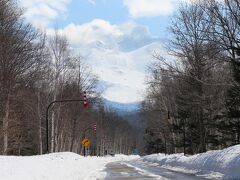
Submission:
[[[147,153],[195,154],[240,143],[240,1],[182,4],[171,57],[155,53],[143,102]]]

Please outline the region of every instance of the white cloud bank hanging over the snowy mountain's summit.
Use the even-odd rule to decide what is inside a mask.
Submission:
[[[94,19],[81,25],[71,23],[59,31],[74,47],[93,43],[95,46],[130,51],[156,40],[145,26],[134,22],[114,25],[102,19]],[[54,30],[48,29],[47,32],[53,34]]]

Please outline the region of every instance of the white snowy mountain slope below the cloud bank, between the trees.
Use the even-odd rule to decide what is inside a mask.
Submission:
[[[85,61],[99,77],[103,97],[120,103],[143,100],[147,66],[153,61],[153,51],[161,49],[160,42],[132,51],[122,51],[99,41],[79,47]]]

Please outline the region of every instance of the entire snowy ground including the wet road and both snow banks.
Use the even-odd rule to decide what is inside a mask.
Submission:
[[[82,157],[66,153],[0,156],[0,180],[96,179],[240,180],[240,145],[194,156]]]

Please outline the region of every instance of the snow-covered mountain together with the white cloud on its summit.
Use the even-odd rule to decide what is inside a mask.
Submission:
[[[54,35],[54,29],[47,34]],[[100,80],[103,97],[119,103],[143,100],[147,67],[153,52],[165,55],[162,42],[146,26],[129,21],[111,24],[103,19],[69,24],[59,32],[80,53]]]

